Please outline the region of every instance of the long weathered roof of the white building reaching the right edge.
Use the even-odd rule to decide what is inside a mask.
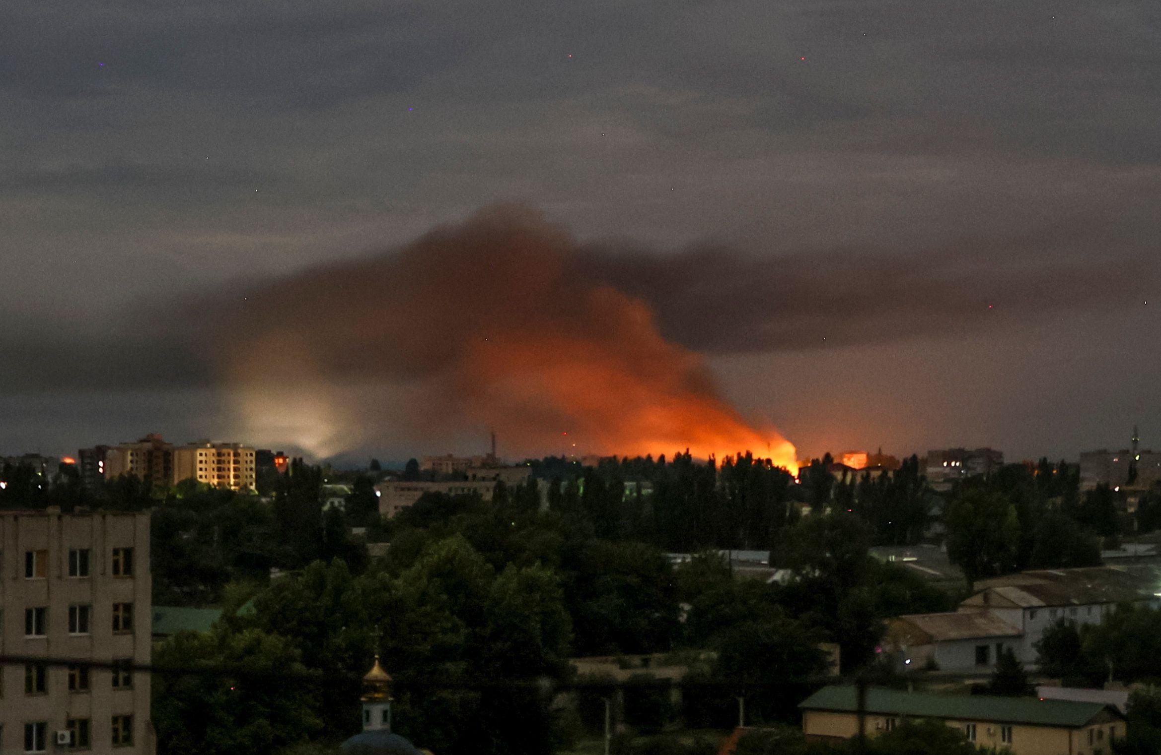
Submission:
[[[976,583],[1024,608],[1091,605],[1152,600],[1161,593],[1161,567],[1094,566],[1009,574]]]

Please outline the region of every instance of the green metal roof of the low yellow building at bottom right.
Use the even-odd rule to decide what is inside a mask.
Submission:
[[[853,687],[824,687],[799,704],[815,711],[856,712]],[[1103,703],[1041,700],[1036,697],[988,697],[983,695],[930,695],[893,689],[867,688],[866,712],[916,718],[944,718],[967,721],[997,721],[1032,726],[1084,726],[1104,710],[1124,718]]]

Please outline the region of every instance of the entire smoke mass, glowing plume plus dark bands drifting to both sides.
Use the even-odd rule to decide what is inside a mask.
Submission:
[[[235,406],[231,434],[319,457],[482,445],[495,429],[513,456],[750,449],[789,465],[793,448],[722,398],[702,355],[1000,333],[1141,306],[1156,283],[1153,264],[1068,262],[1050,246],[662,253],[583,245],[499,206],[402,248],[145,307],[99,334],[9,333],[0,386],[208,389]]]

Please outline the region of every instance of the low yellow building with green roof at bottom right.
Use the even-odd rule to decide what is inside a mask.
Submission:
[[[853,687],[824,687],[799,707],[807,739],[858,735]],[[1015,755],[1108,755],[1112,740],[1125,735],[1124,717],[1103,703],[867,689],[864,731],[868,736],[921,719],[942,720],[978,746],[1008,749]]]

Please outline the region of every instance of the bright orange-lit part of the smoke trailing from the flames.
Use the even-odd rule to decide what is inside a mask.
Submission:
[[[529,449],[555,448],[536,426],[548,414],[567,418],[565,435],[587,453],[671,458],[688,449],[721,460],[751,451],[798,472],[794,447],[729,406],[701,355],[665,341],[643,304],[611,289],[590,296],[606,326],[598,334],[542,327],[470,349],[463,390],[476,399],[477,420]]]

